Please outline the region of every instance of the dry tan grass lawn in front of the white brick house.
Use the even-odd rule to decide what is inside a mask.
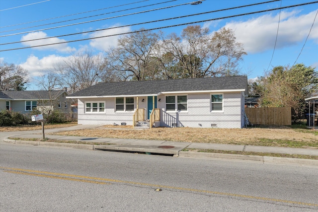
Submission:
[[[199,128],[153,128],[134,130],[132,126],[107,125],[97,129],[60,132],[58,135],[186,141],[204,143],[229,143],[246,145],[273,145],[318,148],[318,136],[312,130],[281,128],[247,129],[199,129]],[[294,142],[295,144],[290,144]],[[289,144],[285,144],[289,143]],[[299,144],[297,144],[299,143]]]

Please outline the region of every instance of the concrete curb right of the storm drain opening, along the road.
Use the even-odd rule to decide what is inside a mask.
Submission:
[[[183,157],[211,157],[222,159],[238,159],[238,160],[252,160],[261,161],[263,163],[296,163],[303,165],[318,166],[318,160],[302,159],[302,158],[289,158],[289,157],[270,157],[258,155],[240,155],[240,154],[222,154],[222,153],[209,153],[209,152],[191,152],[180,151],[179,156]]]

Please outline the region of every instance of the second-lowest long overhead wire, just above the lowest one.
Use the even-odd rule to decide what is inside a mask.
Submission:
[[[36,40],[50,39],[50,38],[56,38],[56,37],[64,37],[64,36],[78,35],[78,34],[84,34],[84,33],[91,33],[91,32],[97,32],[97,31],[103,31],[103,30],[109,30],[109,29],[116,29],[116,28],[122,28],[122,27],[128,27],[128,26],[136,26],[136,25],[141,25],[141,24],[148,24],[148,23],[154,23],[154,22],[160,22],[160,21],[166,21],[166,20],[173,20],[173,19],[177,19],[177,18],[184,18],[184,17],[195,16],[195,15],[202,15],[202,14],[225,11],[225,10],[230,10],[230,9],[237,9],[237,8],[242,8],[242,7],[247,7],[247,6],[254,6],[254,5],[263,4],[263,3],[269,3],[269,2],[273,2],[273,1],[277,1],[277,0],[271,0],[271,1],[266,1],[266,2],[253,3],[253,4],[247,4],[247,5],[242,5],[242,6],[236,6],[236,7],[230,7],[230,8],[225,8],[225,9],[212,10],[212,11],[208,11],[208,12],[201,12],[201,13],[178,16],[178,17],[172,17],[172,18],[165,18],[165,19],[160,19],[160,20],[155,20],[155,21],[147,21],[147,22],[142,22],[142,23],[128,24],[128,25],[116,26],[116,27],[110,27],[110,28],[104,28],[104,29],[96,29],[96,30],[85,31],[85,32],[77,32],[77,33],[66,34],[66,35],[58,35],[58,36],[51,36],[51,37],[45,37],[45,38],[37,38],[37,39],[32,39],[32,40],[16,41],[16,42],[11,42],[11,43],[3,43],[3,44],[0,44],[0,45],[23,43],[23,42],[28,42],[28,41],[36,41]]]

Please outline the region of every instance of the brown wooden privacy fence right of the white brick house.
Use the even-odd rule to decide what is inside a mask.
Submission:
[[[245,114],[254,125],[292,125],[291,107],[245,108]]]

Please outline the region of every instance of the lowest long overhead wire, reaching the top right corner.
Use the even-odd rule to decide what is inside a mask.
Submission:
[[[118,36],[118,35],[132,34],[132,33],[137,33],[137,32],[146,32],[146,31],[152,31],[152,30],[158,30],[158,29],[164,29],[164,28],[170,28],[170,27],[183,26],[183,25],[188,25],[188,24],[195,24],[195,23],[201,23],[201,22],[207,22],[207,21],[213,21],[213,20],[220,20],[220,19],[225,19],[225,18],[239,17],[239,16],[243,16],[243,15],[250,15],[250,14],[256,14],[256,13],[261,13],[261,12],[268,12],[268,11],[273,11],[273,10],[278,10],[278,9],[286,9],[286,8],[291,8],[291,7],[295,7],[295,6],[303,6],[303,5],[313,4],[313,3],[318,3],[318,1],[289,5],[289,6],[284,6],[284,7],[272,8],[272,9],[259,10],[259,11],[255,11],[255,12],[248,12],[248,13],[242,13],[242,14],[237,14],[237,15],[230,15],[230,16],[225,16],[225,17],[220,17],[220,18],[212,18],[212,19],[207,19],[207,20],[200,20],[200,21],[193,21],[193,22],[188,22],[188,23],[162,26],[162,27],[151,28],[151,29],[141,29],[141,30],[137,30],[137,31],[133,31],[133,32],[124,32],[124,33],[118,33],[118,34],[112,34],[112,35],[104,35],[104,36],[93,37],[93,38],[84,38],[84,39],[79,39],[79,40],[64,41],[64,42],[43,44],[43,45],[37,45],[37,46],[21,47],[21,48],[14,48],[14,49],[4,49],[4,50],[0,50],[0,52],[19,50],[19,49],[29,49],[29,48],[50,46],[50,45],[56,45],[56,44],[72,43],[72,42],[78,42],[78,41],[85,41],[85,40],[112,37],[112,36]]]

